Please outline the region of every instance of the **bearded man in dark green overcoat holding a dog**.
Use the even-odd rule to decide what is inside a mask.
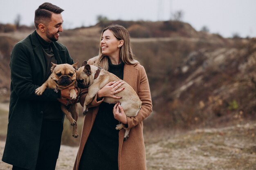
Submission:
[[[73,64],[67,48],[56,42],[63,31],[60,7],[43,3],[35,11],[36,30],[18,42],[11,53],[11,96],[7,139],[2,161],[13,170],[54,170],[61,146],[62,97],[69,89],[35,90],[51,74],[51,62]],[[74,88],[74,87],[72,87]]]

